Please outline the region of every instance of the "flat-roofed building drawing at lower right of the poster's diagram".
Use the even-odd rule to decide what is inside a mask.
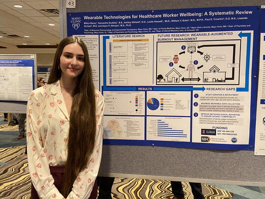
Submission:
[[[203,72],[203,82],[225,82],[226,72],[220,72],[217,66],[212,66],[210,72]]]

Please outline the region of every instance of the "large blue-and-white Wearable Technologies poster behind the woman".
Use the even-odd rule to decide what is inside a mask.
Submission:
[[[67,13],[105,97],[104,143],[254,149],[260,7]]]

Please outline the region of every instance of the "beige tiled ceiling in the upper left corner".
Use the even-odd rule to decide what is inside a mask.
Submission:
[[[24,7],[16,8],[13,6],[14,4],[23,5]],[[39,9],[59,9],[59,0],[0,0],[0,11],[3,10],[2,16],[5,18],[5,20],[0,20],[0,35],[3,36],[3,38],[0,38],[0,43],[6,43],[9,51],[10,46],[14,46],[14,52],[17,52],[15,45],[22,45],[23,43],[27,43],[27,45],[45,45],[46,43],[55,45],[55,43],[58,43],[60,37],[59,17],[56,17],[56,13],[52,15],[50,12],[51,17],[49,17],[50,15],[47,17]],[[9,22],[8,19],[15,22]],[[55,26],[49,26],[50,23],[55,24]],[[27,24],[35,27],[25,28]],[[19,35],[21,38],[9,38],[5,34],[1,34],[1,31],[6,34]],[[45,36],[46,34],[47,36]],[[24,37],[25,35],[29,37]],[[54,38],[58,38],[58,41],[54,41]],[[39,53],[47,52],[47,49],[39,50]]]

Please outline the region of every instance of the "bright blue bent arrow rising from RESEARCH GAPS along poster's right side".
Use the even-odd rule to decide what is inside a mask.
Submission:
[[[245,87],[237,88],[238,92],[248,92],[249,85],[249,65],[250,65],[250,41],[251,41],[251,33],[250,32],[240,32],[238,34],[240,38],[247,38],[247,47],[246,47],[246,71],[245,71]]]

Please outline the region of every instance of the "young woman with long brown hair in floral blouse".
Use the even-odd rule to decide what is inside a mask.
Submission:
[[[89,198],[101,161],[103,109],[85,44],[63,39],[48,84],[27,102],[31,199]]]

